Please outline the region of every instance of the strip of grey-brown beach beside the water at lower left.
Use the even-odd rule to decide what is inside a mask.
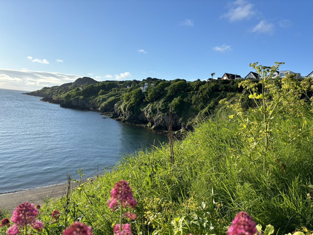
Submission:
[[[44,198],[57,199],[63,196],[67,186],[67,183],[64,183],[0,194],[0,208],[8,210],[11,214],[20,203],[25,201],[43,205]]]

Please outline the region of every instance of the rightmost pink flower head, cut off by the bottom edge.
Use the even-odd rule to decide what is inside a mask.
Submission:
[[[228,227],[227,235],[254,235],[255,223],[247,212],[239,212]]]

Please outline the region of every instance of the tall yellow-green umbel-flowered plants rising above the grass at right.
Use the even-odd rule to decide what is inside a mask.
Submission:
[[[246,79],[238,84],[249,92],[249,98],[253,100],[254,107],[249,110],[241,107],[244,94],[239,95],[234,104],[226,99],[220,101],[232,110],[233,114],[229,118],[240,124],[239,134],[247,136],[247,143],[244,144],[250,151],[250,158],[254,150],[261,154],[266,152],[273,129],[276,129],[282,118],[291,115],[303,119],[301,124],[290,128],[290,133],[284,139],[286,144],[298,137],[312,134],[313,127],[306,127],[305,115],[312,111],[313,97],[309,94],[313,91],[313,79],[307,77],[300,81],[297,74],[286,74],[283,78],[273,77],[282,64],[284,63],[275,62],[271,67],[258,65],[257,62],[250,64],[258,73],[259,82]],[[258,146],[262,146],[263,150]]]

